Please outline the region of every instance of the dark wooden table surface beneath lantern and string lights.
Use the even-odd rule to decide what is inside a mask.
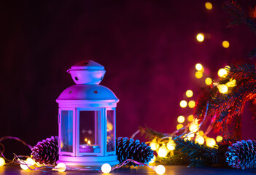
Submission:
[[[229,169],[229,168],[212,168],[212,167],[203,167],[203,168],[187,168],[187,166],[165,166],[166,167],[166,175],[187,175],[187,174],[228,174],[228,175],[238,175],[238,174],[256,174],[256,169]],[[0,167],[0,174],[101,174],[97,171],[65,171],[63,173],[59,173],[58,171],[49,171],[44,173],[42,171],[31,171],[31,170],[22,170],[20,166],[2,166]],[[115,171],[112,171],[110,174],[128,174],[128,175],[141,175],[141,174],[156,174],[150,168],[147,167],[137,167],[137,168],[119,168]]]

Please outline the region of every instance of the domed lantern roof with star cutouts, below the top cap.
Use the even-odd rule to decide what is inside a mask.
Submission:
[[[87,101],[109,101],[117,103],[119,99],[115,96],[115,93],[109,88],[103,85],[72,85],[69,88],[63,90],[60,96],[57,98],[57,102],[61,101],[75,101],[75,100],[87,100]]]

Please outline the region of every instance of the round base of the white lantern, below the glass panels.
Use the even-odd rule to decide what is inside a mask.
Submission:
[[[117,155],[109,156],[82,156],[73,157],[60,155],[57,163],[65,163],[66,166],[102,166],[104,163],[109,163],[110,166],[119,164]]]

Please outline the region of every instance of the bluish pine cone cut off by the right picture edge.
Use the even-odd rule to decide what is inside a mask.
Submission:
[[[228,147],[225,157],[232,168],[256,168],[256,141],[236,141]]]

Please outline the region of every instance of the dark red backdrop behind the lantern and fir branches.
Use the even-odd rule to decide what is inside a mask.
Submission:
[[[58,135],[55,99],[74,85],[66,70],[86,59],[105,66],[101,84],[120,99],[117,136],[131,136],[141,125],[171,133],[177,116],[191,112],[179,107],[185,91],[196,97],[204,85],[193,75],[195,63],[216,78],[223,66],[249,61],[247,52],[256,47],[249,28],[226,27],[223,1],[212,1],[212,10],[205,2],[1,1],[0,136],[34,145]],[[209,38],[197,42],[198,32]],[[251,121],[246,109],[244,139],[256,137]]]

